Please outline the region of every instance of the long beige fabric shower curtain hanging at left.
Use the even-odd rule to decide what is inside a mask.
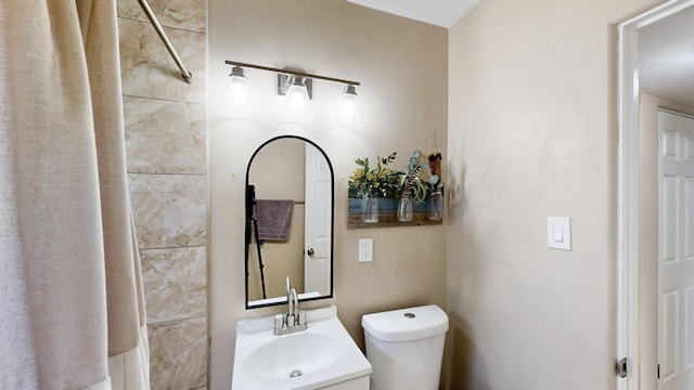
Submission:
[[[115,0],[0,0],[0,389],[147,389]]]

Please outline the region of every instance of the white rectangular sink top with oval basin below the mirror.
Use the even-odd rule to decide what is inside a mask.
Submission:
[[[232,390],[319,389],[371,374],[337,318],[337,308],[307,311],[308,328],[274,336],[273,317],[240,321]]]

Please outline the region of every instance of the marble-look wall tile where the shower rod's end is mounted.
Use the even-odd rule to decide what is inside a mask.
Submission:
[[[167,27],[164,30],[193,74],[191,82],[183,81],[181,72],[151,24],[119,17],[123,93],[205,103],[205,35]]]

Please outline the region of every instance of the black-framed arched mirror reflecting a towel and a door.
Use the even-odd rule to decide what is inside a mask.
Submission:
[[[246,309],[333,296],[333,167],[313,142],[267,141],[246,170]]]

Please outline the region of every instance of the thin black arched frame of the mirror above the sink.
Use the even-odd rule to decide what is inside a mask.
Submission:
[[[331,299],[333,298],[333,294],[335,291],[335,286],[334,286],[334,282],[335,282],[335,277],[334,277],[334,273],[335,273],[335,261],[334,261],[334,253],[335,253],[335,170],[333,169],[333,164],[330,161],[330,158],[327,157],[327,154],[325,153],[325,151],[323,151],[323,148],[321,148],[316,142],[306,139],[304,136],[300,135],[278,135],[274,136],[266,142],[264,142],[260,146],[258,146],[256,148],[255,152],[253,152],[253,155],[250,156],[250,159],[248,160],[248,165],[246,166],[246,180],[245,180],[245,186],[244,186],[244,192],[245,192],[245,239],[244,239],[244,272],[245,272],[245,278],[244,278],[244,284],[245,284],[245,297],[246,297],[246,302],[245,302],[245,307],[246,310],[249,309],[259,309],[259,308],[267,308],[267,307],[273,307],[273,306],[280,306],[280,304],[286,304],[286,298],[277,302],[268,302],[268,303],[260,303],[260,304],[253,304],[249,306],[248,304],[248,276],[249,276],[249,269],[248,269],[248,256],[249,256],[249,246],[250,246],[250,216],[253,214],[253,199],[250,199],[250,197],[253,196],[252,194],[249,194],[248,191],[248,174],[250,173],[250,166],[253,164],[253,160],[256,158],[256,155],[262,150],[262,147],[265,147],[267,144],[278,141],[278,140],[282,140],[282,139],[294,139],[294,140],[299,140],[299,141],[304,141],[306,143],[311,144],[313,147],[316,147],[316,150],[318,150],[322,155],[323,158],[325,158],[325,161],[327,162],[327,167],[330,168],[330,176],[331,176],[331,199],[330,199],[330,217],[331,217],[331,224],[330,224],[330,294],[329,295],[324,295],[324,296],[320,296],[320,297],[313,297],[313,298],[299,298],[299,302],[306,302],[306,301],[312,301],[312,300],[320,300],[320,299]],[[269,300],[270,298],[267,298],[267,300]]]

